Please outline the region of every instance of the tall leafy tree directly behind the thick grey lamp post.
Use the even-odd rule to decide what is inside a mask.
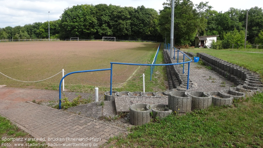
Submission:
[[[160,32],[163,37],[170,36],[171,1],[163,4],[160,11]],[[208,3],[194,5],[189,0],[175,0],[174,45],[189,45],[197,33],[204,32],[206,17],[211,6]]]

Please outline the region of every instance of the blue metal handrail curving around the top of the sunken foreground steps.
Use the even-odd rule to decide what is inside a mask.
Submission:
[[[167,46],[165,46],[167,47]],[[168,49],[170,50],[170,45],[168,44]],[[160,45],[159,45],[159,48],[160,49]],[[174,48],[175,50],[176,48]],[[167,49],[166,49],[167,50]],[[178,51],[178,54],[179,51]],[[181,52],[183,55],[184,55],[184,58],[183,58],[183,62],[182,63],[178,63],[178,55],[177,55],[177,63],[171,63],[171,64],[134,64],[134,63],[117,63],[117,62],[110,62],[110,68],[107,68],[107,69],[94,69],[94,70],[84,70],[84,71],[76,71],[76,72],[70,72],[68,74],[66,74],[65,76],[63,76],[63,78],[61,79],[60,83],[59,83],[59,109],[61,109],[61,84],[62,84],[62,81],[63,79],[70,75],[70,74],[75,74],[75,73],[82,73],[82,72],[97,72],[97,71],[106,71],[106,70],[110,70],[110,95],[112,95],[112,69],[113,69],[113,64],[123,64],[123,65],[139,65],[139,66],[168,66],[168,65],[178,65],[178,64],[183,64],[183,67],[184,67],[184,64],[185,63],[188,63],[188,77],[187,77],[187,89],[189,89],[189,70],[190,70],[190,62],[192,62],[192,59],[189,58],[187,55],[185,55],[183,52]],[[187,61],[185,62],[185,56],[190,59],[190,61]],[[184,73],[184,68],[183,68],[183,73]]]

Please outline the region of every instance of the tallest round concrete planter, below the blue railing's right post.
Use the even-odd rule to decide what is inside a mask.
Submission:
[[[168,108],[173,111],[191,112],[192,99],[184,91],[172,91],[168,96]],[[178,110],[179,109],[179,110]]]

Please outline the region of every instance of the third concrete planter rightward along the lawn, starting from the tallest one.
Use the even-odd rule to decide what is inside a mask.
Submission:
[[[218,91],[212,91],[208,93],[212,97],[212,103],[215,106],[231,106],[233,102],[233,97],[223,94]]]

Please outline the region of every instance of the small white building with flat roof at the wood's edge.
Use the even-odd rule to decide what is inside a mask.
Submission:
[[[210,36],[196,36],[195,37],[195,44],[194,47],[201,47],[204,48],[207,45],[211,45],[212,41],[216,42],[216,37],[219,35],[210,35]],[[206,47],[207,48],[207,47]]]

